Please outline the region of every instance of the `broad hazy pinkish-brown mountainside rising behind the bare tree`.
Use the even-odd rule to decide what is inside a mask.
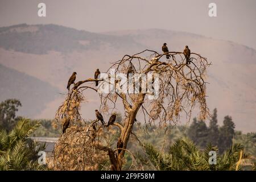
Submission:
[[[256,131],[256,51],[234,42],[159,29],[92,33],[54,24],[19,24],[0,28],[0,64],[67,93],[67,81],[73,71],[77,72],[77,80],[93,77],[97,68],[105,72],[110,63],[123,55],[144,49],[160,53],[164,42],[170,51],[183,51],[188,45],[192,52],[212,61],[207,71],[209,109],[217,107],[220,119],[231,115],[237,130]],[[8,93],[14,89],[10,87],[13,85],[1,88]],[[27,87],[24,89],[28,90]],[[52,99],[55,94],[41,95],[40,99],[45,101],[42,103],[47,106],[38,110],[31,106],[34,117],[54,117],[64,99],[64,95]],[[98,96],[86,92],[86,99],[89,102],[82,107],[82,117],[91,119],[95,117],[94,109],[98,108]]]

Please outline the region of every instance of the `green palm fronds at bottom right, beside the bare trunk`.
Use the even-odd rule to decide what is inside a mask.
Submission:
[[[138,159],[142,163],[157,170],[180,170],[180,171],[196,171],[196,170],[236,170],[237,163],[240,160],[240,154],[243,150],[242,144],[234,144],[227,148],[224,154],[218,156],[218,148],[208,145],[204,151],[201,151],[191,140],[187,138],[177,140],[166,154],[162,154],[151,144],[143,145],[146,155],[138,155]],[[209,164],[209,152],[216,151],[217,164]],[[241,155],[241,161],[249,159],[246,154]],[[238,164],[238,170],[241,166]]]

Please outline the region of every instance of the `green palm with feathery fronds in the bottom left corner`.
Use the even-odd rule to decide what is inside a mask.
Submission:
[[[28,137],[40,126],[37,121],[20,119],[10,133],[0,130],[0,170],[44,169],[38,164],[38,152],[45,149]]]

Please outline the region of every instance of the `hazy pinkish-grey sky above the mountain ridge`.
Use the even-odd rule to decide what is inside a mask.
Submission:
[[[38,3],[47,16],[38,17]],[[210,2],[217,17],[208,16]],[[0,0],[0,27],[54,23],[104,32],[161,28],[232,40],[256,49],[256,0]]]

